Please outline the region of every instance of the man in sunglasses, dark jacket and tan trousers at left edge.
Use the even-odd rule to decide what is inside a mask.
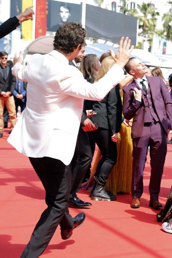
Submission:
[[[15,126],[17,122],[15,102],[12,95],[16,85],[16,78],[12,75],[12,65],[7,64],[8,54],[7,52],[0,52],[0,138],[2,138],[4,130],[3,112],[4,105],[6,105],[9,119],[11,121],[11,128]]]

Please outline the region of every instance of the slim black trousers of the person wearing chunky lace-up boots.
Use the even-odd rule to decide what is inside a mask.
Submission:
[[[113,166],[117,162],[117,144],[111,140],[111,132],[108,129],[98,128],[91,131],[102,158],[97,165],[95,176],[101,185],[105,185]]]

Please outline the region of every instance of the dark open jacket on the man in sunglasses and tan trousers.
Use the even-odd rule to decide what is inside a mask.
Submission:
[[[10,91],[11,94],[13,93],[13,90],[15,89],[16,85],[16,78],[14,75],[12,75],[12,65],[7,64],[7,78],[4,79],[1,70],[0,70],[0,93],[2,91],[7,92]],[[0,95],[1,97],[1,95]]]

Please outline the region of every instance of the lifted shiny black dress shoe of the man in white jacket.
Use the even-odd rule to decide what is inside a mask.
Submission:
[[[74,228],[79,227],[79,226],[82,225],[82,223],[85,220],[85,213],[81,212],[76,217],[74,217],[73,219],[74,219],[74,226],[71,229],[61,230],[61,238],[63,240],[67,240],[68,238],[70,238]]]

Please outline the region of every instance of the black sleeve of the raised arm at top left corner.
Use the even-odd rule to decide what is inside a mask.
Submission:
[[[19,20],[17,17],[9,18],[0,26],[0,39],[9,34],[10,32],[14,31],[17,26],[19,26]]]

